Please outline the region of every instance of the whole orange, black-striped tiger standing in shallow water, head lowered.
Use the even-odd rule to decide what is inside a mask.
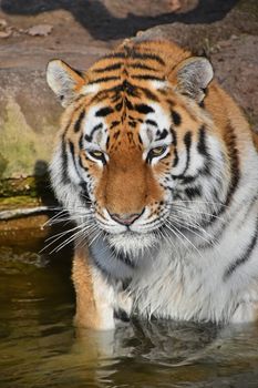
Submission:
[[[50,170],[76,223],[75,324],[257,319],[258,139],[210,62],[140,37],[47,79],[65,109]]]

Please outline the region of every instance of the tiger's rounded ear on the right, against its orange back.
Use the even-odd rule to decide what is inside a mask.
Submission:
[[[168,80],[175,84],[179,93],[200,103],[213,76],[213,67],[206,58],[192,57],[182,61],[169,74]]]

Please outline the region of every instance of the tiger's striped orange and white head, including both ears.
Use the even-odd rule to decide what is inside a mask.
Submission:
[[[204,108],[207,59],[126,42],[84,73],[53,60],[47,75],[65,108],[52,184],[85,235],[137,252],[194,232],[225,195],[225,152]]]

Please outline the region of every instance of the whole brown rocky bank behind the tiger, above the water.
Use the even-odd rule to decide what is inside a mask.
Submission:
[[[0,0],[0,210],[52,201],[47,165],[62,109],[48,61],[86,69],[147,29],[209,57],[258,129],[257,0]]]

